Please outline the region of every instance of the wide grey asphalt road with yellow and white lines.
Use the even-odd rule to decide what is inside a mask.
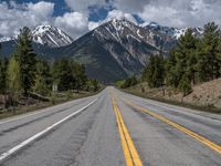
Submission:
[[[1,166],[221,166],[221,115],[114,87],[0,121]]]

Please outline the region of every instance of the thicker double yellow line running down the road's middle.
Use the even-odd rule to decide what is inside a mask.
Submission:
[[[117,104],[114,97],[112,97],[112,104],[113,104],[113,108],[116,115],[116,121],[117,121],[119,136],[122,139],[122,146],[124,151],[126,165],[127,166],[143,166],[143,163],[135,148],[131,137],[129,136],[129,133],[127,131],[127,127],[124,123],[124,120],[122,117],[122,114],[119,112],[119,108],[117,107]]]

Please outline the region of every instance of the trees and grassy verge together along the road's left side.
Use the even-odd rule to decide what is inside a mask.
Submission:
[[[0,118],[88,96],[99,89],[74,60],[49,62],[38,56],[29,28],[20,31],[13,54],[0,56]]]

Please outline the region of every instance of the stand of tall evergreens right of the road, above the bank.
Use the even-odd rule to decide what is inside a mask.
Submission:
[[[181,35],[168,58],[151,56],[141,80],[150,87],[178,87],[187,95],[194,84],[221,76],[221,31],[214,22],[207,23],[202,37],[191,29]]]

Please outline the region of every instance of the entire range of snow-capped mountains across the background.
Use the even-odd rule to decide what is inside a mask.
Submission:
[[[39,25],[32,31],[35,52],[49,60],[72,58],[86,66],[88,76],[108,83],[140,74],[150,55],[167,55],[186,29],[161,27],[155,22],[136,25],[125,19],[113,19],[73,41],[62,30]],[[193,28],[200,37],[202,29]],[[9,55],[15,37],[0,38],[1,54]]]

